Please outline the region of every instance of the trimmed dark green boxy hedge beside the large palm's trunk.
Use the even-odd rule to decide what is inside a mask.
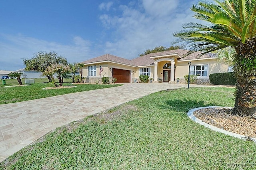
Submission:
[[[236,77],[233,72],[213,73],[209,75],[210,83],[214,85],[235,85]]]

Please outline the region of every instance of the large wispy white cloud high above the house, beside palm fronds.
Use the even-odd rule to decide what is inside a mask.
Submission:
[[[182,30],[182,25],[196,21],[189,7],[178,0],[141,0],[140,7],[120,5],[121,15],[104,14],[100,20],[114,29],[105,43],[105,53],[132,59],[146,49],[163,45],[169,47],[172,34]],[[112,41],[110,41],[112,39]]]

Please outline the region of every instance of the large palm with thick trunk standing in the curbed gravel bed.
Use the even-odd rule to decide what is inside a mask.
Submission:
[[[205,26],[188,23],[174,33],[175,43],[186,42],[191,53],[234,47],[236,76],[235,105],[232,114],[256,117],[256,0],[213,0],[198,2],[190,8],[195,18],[209,22]]]

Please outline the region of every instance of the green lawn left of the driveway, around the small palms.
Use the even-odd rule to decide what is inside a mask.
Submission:
[[[22,79],[22,83],[24,83],[25,79]],[[65,79],[64,86],[72,85],[70,82],[72,80]],[[6,79],[6,85],[0,85],[0,104],[6,103],[15,103],[20,101],[28,101],[32,99],[40,99],[44,97],[52,97],[56,95],[64,95],[68,93],[76,93],[81,91],[95,90],[95,89],[103,89],[108,87],[116,87],[119,85],[76,85],[74,88],[66,88],[66,89],[49,89],[42,90],[44,87],[54,87],[53,83],[48,83],[48,79],[35,79],[35,83],[29,86],[18,86],[18,87],[5,87],[18,85],[18,81],[16,79]]]

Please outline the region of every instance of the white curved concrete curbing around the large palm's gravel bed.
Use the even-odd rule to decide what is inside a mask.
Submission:
[[[222,106],[208,106],[208,107],[198,107],[198,108],[195,108],[195,109],[191,109],[190,111],[188,111],[188,117],[190,119],[192,119],[193,121],[195,121],[196,123],[199,123],[200,125],[203,125],[204,127],[208,127],[214,131],[217,131],[217,132],[221,132],[221,133],[224,133],[224,134],[228,134],[230,136],[233,136],[233,137],[236,137],[236,138],[240,138],[240,139],[243,139],[243,140],[246,140],[246,138],[248,138],[247,136],[244,136],[244,135],[241,135],[241,134],[237,134],[237,133],[234,133],[234,132],[229,132],[227,130],[223,130],[221,128],[217,128],[217,127],[214,127],[212,125],[209,125],[203,121],[201,121],[200,119],[197,119],[196,117],[194,117],[194,111],[197,111],[199,109],[206,109],[206,108],[217,108],[217,107],[222,107]],[[222,107],[222,108],[231,108],[231,107]],[[252,139],[255,143],[256,143],[256,138],[250,138]]]

